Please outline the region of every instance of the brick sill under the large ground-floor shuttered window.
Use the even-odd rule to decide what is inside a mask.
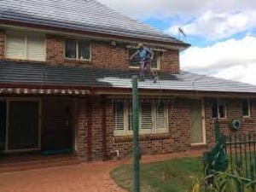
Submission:
[[[155,139],[167,139],[167,138],[170,138],[169,132],[139,135],[140,141],[148,141],[148,140],[155,140]],[[132,140],[133,140],[132,135],[114,136],[114,142],[131,142]]]

